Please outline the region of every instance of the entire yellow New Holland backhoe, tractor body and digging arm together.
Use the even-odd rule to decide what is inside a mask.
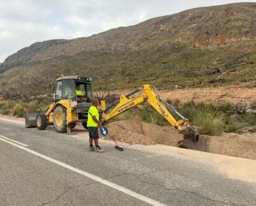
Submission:
[[[53,125],[59,133],[74,134],[71,133],[71,129],[76,127],[77,123],[82,123],[83,127],[87,129],[88,110],[92,106],[93,99],[92,78],[62,75],[56,81],[55,94],[51,95],[54,97],[53,103],[43,113],[27,114],[25,127],[37,127],[39,130],[44,130],[47,126]],[[86,94],[87,100],[85,102],[78,101],[75,89],[77,85],[80,86],[82,93]],[[136,93],[139,93],[139,95],[136,98],[131,98]],[[105,101],[101,101],[101,106],[98,108],[100,121],[105,123],[143,102],[152,105],[178,133],[183,134],[184,140],[178,141],[178,147],[205,151],[205,140],[199,137],[198,130],[191,126],[188,119],[164,101],[155,87],[148,84],[144,84],[142,88],[126,95],[121,95],[119,100],[114,101],[109,106],[105,105]],[[109,112],[110,108],[114,106],[115,108]],[[181,119],[176,121],[168,109],[177,113]]]

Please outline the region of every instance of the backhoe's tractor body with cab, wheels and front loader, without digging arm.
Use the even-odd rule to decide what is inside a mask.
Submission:
[[[93,99],[92,78],[62,75],[56,81],[53,103],[43,113],[27,114],[25,127],[44,130],[47,126],[53,125],[59,133],[73,134],[71,128],[74,128],[77,123],[82,123],[87,129],[88,110],[92,106]],[[82,93],[86,94],[86,102],[78,102],[77,85],[80,85]]]

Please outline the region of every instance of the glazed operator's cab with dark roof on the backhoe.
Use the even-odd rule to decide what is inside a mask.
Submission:
[[[62,99],[71,99],[78,102],[76,86],[80,86],[80,91],[85,95],[86,101],[79,101],[80,109],[86,109],[92,105],[93,91],[92,78],[81,76],[64,76],[57,80],[55,103]],[[88,104],[89,103],[89,104]]]

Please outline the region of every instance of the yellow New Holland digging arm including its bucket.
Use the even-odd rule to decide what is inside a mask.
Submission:
[[[141,92],[142,95],[138,95],[136,98],[131,98],[131,95]],[[199,137],[198,130],[191,126],[188,119],[180,115],[171,105],[163,100],[157,93],[155,87],[148,84],[144,84],[142,88],[133,90],[132,92],[121,95],[120,99],[114,101],[109,106],[105,106],[105,101],[101,101],[100,111],[102,112],[101,122],[107,122],[111,118],[131,109],[143,102],[148,102],[158,111],[167,121],[177,130],[178,133],[183,134],[184,140],[178,141],[178,147],[187,148],[199,151],[205,151],[205,139]],[[109,109],[116,106],[110,113]],[[178,114],[182,119],[176,121],[171,113],[168,111]]]

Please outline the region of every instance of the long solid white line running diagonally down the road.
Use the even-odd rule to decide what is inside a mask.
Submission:
[[[130,196],[132,196],[132,197],[135,197],[135,198],[137,198],[137,199],[139,199],[139,200],[142,200],[142,201],[144,201],[144,202],[147,202],[147,203],[149,203],[149,204],[156,205],[156,206],[158,206],[158,205],[159,205],[159,206],[167,206],[166,204],[162,204],[162,203],[160,203],[160,202],[158,202],[158,201],[156,201],[156,200],[150,199],[150,198],[148,198],[148,197],[145,197],[145,196],[143,196],[143,195],[140,195],[140,194],[138,194],[138,193],[135,193],[135,192],[133,192],[133,191],[131,191],[131,190],[128,190],[128,189],[125,188],[125,187],[119,186],[119,185],[117,185],[117,184],[114,184],[114,183],[112,183],[112,182],[109,182],[109,181],[107,181],[107,180],[104,180],[104,179],[102,179],[102,178],[100,178],[100,177],[97,177],[97,176],[95,176],[95,175],[86,173],[86,171],[80,170],[80,169],[78,169],[78,168],[76,168],[76,167],[72,167],[72,166],[70,166],[70,165],[68,165],[68,164],[65,164],[65,163],[63,163],[63,162],[60,162],[60,161],[58,161],[58,160],[49,158],[49,157],[47,157],[47,156],[45,156],[45,155],[42,155],[42,154],[40,154],[40,153],[38,153],[38,152],[36,152],[36,151],[33,151],[33,150],[31,150],[31,149],[28,149],[28,148],[26,148],[26,147],[17,145],[17,144],[15,144],[15,143],[9,142],[9,141],[4,140],[4,139],[1,139],[1,138],[0,138],[0,140],[2,140],[2,141],[4,141],[4,142],[7,142],[7,143],[9,143],[9,144],[11,144],[11,145],[14,145],[14,146],[16,146],[16,147],[19,147],[19,148],[21,148],[21,149],[24,149],[24,150],[26,150],[26,151],[28,151],[28,152],[30,152],[30,153],[33,153],[33,154],[36,155],[36,156],[39,156],[39,157],[41,157],[41,158],[43,158],[43,159],[46,159],[46,160],[48,160],[48,161],[51,161],[51,162],[53,162],[53,163],[55,163],[55,164],[61,165],[61,166],[65,167],[65,168],[68,168],[68,169],[70,169],[70,170],[72,170],[72,171],[75,171],[76,173],[79,173],[79,174],[84,175],[84,176],[86,176],[86,177],[88,177],[88,178],[91,178],[91,179],[93,179],[93,180],[95,180],[95,181],[97,181],[97,182],[100,182],[100,183],[102,183],[102,184],[105,184],[105,185],[107,185],[107,186],[110,186],[110,187],[114,188],[115,190],[121,191],[121,192],[123,192],[123,193],[125,193],[125,194],[127,194],[127,195],[130,195]]]

